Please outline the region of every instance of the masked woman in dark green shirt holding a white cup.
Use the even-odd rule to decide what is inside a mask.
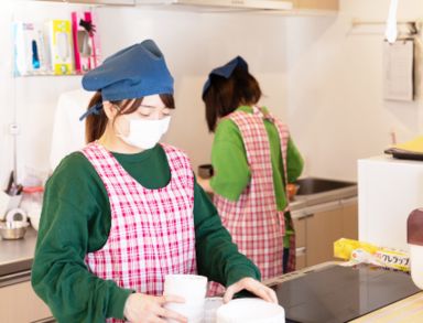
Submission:
[[[167,310],[167,273],[199,273],[276,302],[231,243],[181,150],[158,143],[175,108],[173,78],[151,40],[83,77],[96,91],[87,146],[46,184],[32,284],[58,322],[186,322]]]

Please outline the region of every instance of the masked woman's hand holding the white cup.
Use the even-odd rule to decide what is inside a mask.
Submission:
[[[165,319],[186,323],[185,316],[164,308],[164,304],[170,302],[183,303],[184,299],[173,295],[152,297],[133,293],[124,304],[123,315],[131,323],[165,323]]]

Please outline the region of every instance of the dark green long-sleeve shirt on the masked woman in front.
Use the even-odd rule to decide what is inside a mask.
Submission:
[[[113,153],[141,185],[165,186],[171,171],[161,146],[135,154]],[[80,153],[66,157],[46,184],[32,267],[32,286],[58,322],[105,322],[123,317],[133,291],[99,279],[84,258],[107,241],[111,225],[106,187]],[[194,225],[199,274],[226,286],[242,277],[260,279],[258,268],[231,243],[216,208],[195,183]]]

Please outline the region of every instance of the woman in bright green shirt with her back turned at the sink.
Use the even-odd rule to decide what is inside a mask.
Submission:
[[[259,106],[260,97],[260,86],[242,57],[210,72],[203,100],[208,129],[215,132],[215,174],[200,184],[215,193],[223,224],[239,250],[269,279],[295,269],[285,192],[300,176],[303,159],[288,127]]]

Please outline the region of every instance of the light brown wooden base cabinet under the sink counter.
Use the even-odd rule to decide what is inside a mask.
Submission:
[[[293,212],[296,269],[334,260],[334,241],[358,239],[357,197]]]

